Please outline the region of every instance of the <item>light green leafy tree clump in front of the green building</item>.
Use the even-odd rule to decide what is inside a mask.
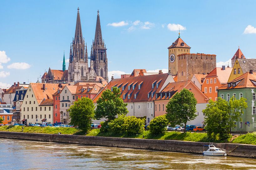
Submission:
[[[245,98],[236,100],[233,96],[229,101],[223,100],[220,97],[217,101],[209,101],[205,114],[205,124],[208,137],[219,134],[221,140],[227,139],[231,134],[231,129],[235,128],[235,121],[241,120],[241,115],[246,109],[247,103]]]

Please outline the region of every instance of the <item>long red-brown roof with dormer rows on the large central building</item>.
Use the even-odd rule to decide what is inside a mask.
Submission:
[[[154,85],[154,88],[152,88],[152,83],[153,82],[157,82],[159,80],[161,80],[161,82],[159,82],[158,88],[156,88],[156,85]],[[155,74],[155,75],[144,75],[144,76],[135,76],[135,77],[127,77],[127,78],[120,78],[120,79],[113,79],[111,80],[106,87],[104,87],[104,89],[98,94],[96,95],[96,97],[93,99],[93,102],[96,103],[97,100],[99,99],[99,97],[102,95],[103,91],[106,89],[111,90],[111,87],[115,86],[115,85],[120,85],[120,84],[128,84],[128,85],[132,85],[134,84],[134,82],[142,82],[143,84],[140,86],[140,90],[138,90],[138,85],[136,85],[133,88],[130,88],[130,90],[128,90],[128,86],[126,86],[124,88],[124,90],[122,90],[122,88],[120,88],[121,90],[121,98],[123,98],[123,94],[131,94],[130,99],[128,99],[128,96],[125,96],[124,102],[146,102],[146,101],[152,101],[153,98],[150,97],[148,98],[148,92],[153,90],[158,92],[159,90],[161,90],[161,88],[163,87],[163,85],[165,85],[165,81],[169,82],[174,82],[173,78],[171,75],[169,75],[168,73],[165,74]],[[137,93],[137,97],[136,99],[134,98],[134,92]]]

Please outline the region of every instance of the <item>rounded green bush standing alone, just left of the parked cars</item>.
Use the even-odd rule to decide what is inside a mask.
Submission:
[[[165,133],[166,131],[165,127],[168,125],[168,123],[169,122],[166,119],[165,114],[155,117],[150,121],[150,126],[149,126],[150,133],[153,135]]]

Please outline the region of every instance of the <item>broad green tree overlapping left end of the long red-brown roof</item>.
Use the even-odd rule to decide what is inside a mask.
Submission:
[[[116,118],[116,115],[127,114],[126,106],[127,104],[120,98],[120,90],[117,87],[113,87],[112,91],[107,89],[97,100],[95,118],[98,120],[106,118],[110,122]]]

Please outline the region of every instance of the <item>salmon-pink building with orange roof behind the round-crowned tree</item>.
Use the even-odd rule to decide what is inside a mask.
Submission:
[[[157,117],[166,114],[166,105],[170,98],[184,88],[190,90],[197,100],[197,117],[196,119],[187,122],[187,124],[202,126],[204,124],[204,114],[202,110],[206,108],[209,99],[191,80],[169,83],[162,90],[156,93],[154,99],[154,116]]]

